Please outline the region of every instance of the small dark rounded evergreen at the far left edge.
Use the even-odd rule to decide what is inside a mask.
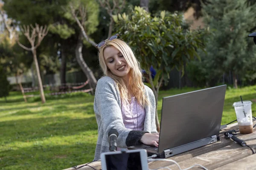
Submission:
[[[9,82],[7,80],[6,71],[4,71],[3,67],[0,65],[0,97],[5,97],[9,95]]]

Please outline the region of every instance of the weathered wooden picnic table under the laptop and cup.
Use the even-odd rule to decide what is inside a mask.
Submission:
[[[253,122],[254,124],[255,121]],[[221,132],[233,129],[238,130],[237,123],[228,125]],[[242,135],[238,132],[237,137],[244,140],[253,149],[254,153],[256,152],[256,127],[253,128],[253,133],[250,134]],[[168,159],[177,161],[182,169],[194,164],[201,164],[208,170],[256,170],[256,154],[253,154],[253,151],[247,146],[242,147],[236,144],[231,139],[225,139],[224,135],[220,134],[220,141],[218,142],[172,156]],[[82,165],[84,164],[77,167]],[[101,169],[100,161],[92,162],[89,165],[97,170]],[[172,170],[178,170],[178,167],[169,161],[150,162],[148,167],[150,169],[169,167]],[[199,167],[193,167],[191,170],[197,169],[201,170]],[[74,170],[74,168],[68,168],[66,170]],[[93,169],[85,166],[79,168],[79,170]]]

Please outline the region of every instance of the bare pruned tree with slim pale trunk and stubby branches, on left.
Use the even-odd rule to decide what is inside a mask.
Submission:
[[[18,36],[17,36],[17,43],[20,45],[20,47],[24,48],[25,50],[32,51],[33,60],[35,62],[35,67],[36,67],[36,72],[38,77],[38,88],[40,91],[41,101],[44,104],[45,103],[44,88],[43,88],[43,84],[40,76],[38,59],[36,56],[36,49],[41,44],[44,37],[47,35],[49,29],[47,28],[47,26],[43,27],[43,26],[39,26],[38,24],[35,24],[35,27],[33,27],[32,25],[30,27],[32,28],[31,33],[30,33],[29,26],[23,26],[23,28],[20,28],[20,30],[29,40],[31,48],[28,48],[22,45],[18,39]],[[37,37],[37,43],[35,44],[36,37]]]

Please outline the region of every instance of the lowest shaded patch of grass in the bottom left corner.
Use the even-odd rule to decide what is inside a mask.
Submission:
[[[62,170],[90,162],[96,144],[81,141],[70,145],[33,145],[0,151],[0,165],[5,170]]]

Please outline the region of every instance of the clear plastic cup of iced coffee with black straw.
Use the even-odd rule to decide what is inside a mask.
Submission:
[[[236,118],[241,134],[253,133],[252,102],[234,102]]]

